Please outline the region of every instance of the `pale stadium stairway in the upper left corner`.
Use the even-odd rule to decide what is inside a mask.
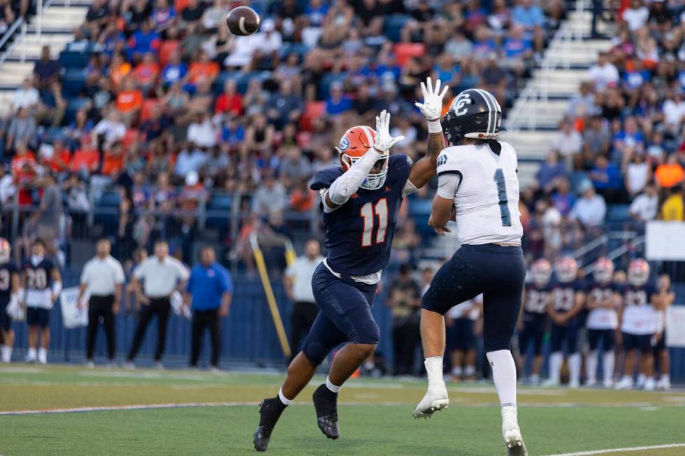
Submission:
[[[25,43],[21,32],[17,31],[15,41],[0,65],[0,115],[9,114],[13,93],[20,87],[22,80],[33,72],[34,62],[41,57],[42,47],[49,45],[52,58],[57,59],[59,52],[73,41],[73,29],[82,24],[90,3],[82,0],[54,0],[43,10],[40,35],[38,17],[34,17],[28,24]]]

